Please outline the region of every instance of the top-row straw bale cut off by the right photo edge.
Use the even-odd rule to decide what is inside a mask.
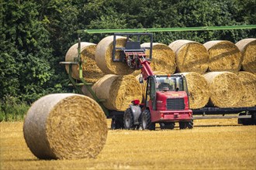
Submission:
[[[242,69],[256,74],[256,39],[242,39],[236,46],[242,53]]]

